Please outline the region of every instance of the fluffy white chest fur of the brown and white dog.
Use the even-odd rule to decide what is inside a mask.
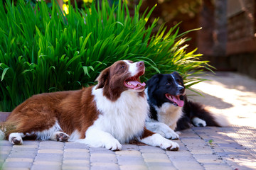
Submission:
[[[120,143],[129,142],[134,136],[141,135],[148,113],[145,97],[134,91],[124,91],[117,101],[103,96],[102,89],[92,89],[95,96],[99,118],[93,128],[109,132]]]

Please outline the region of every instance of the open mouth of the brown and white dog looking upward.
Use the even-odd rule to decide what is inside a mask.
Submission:
[[[129,89],[143,90],[146,84],[144,82],[141,83],[139,80],[139,77],[142,76],[143,74],[144,72],[139,72],[134,77],[129,77],[124,81],[124,86],[126,86]]]

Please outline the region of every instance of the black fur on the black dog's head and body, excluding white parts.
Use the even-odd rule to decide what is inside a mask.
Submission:
[[[205,120],[208,126],[220,126],[201,104],[188,101],[185,94],[183,79],[177,72],[171,74],[156,74],[146,81],[146,86],[150,106],[149,117],[151,119],[158,121],[158,113],[154,106],[160,108],[166,102],[173,103],[168,100],[165,95],[171,94],[179,96],[180,100],[184,102],[183,117],[178,120],[176,130],[191,128],[193,125],[191,120],[195,117]],[[173,104],[177,106],[176,103]]]

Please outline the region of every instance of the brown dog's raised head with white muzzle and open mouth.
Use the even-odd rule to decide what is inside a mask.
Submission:
[[[123,91],[133,91],[144,95],[145,83],[139,77],[145,72],[144,62],[121,60],[104,69],[97,77],[96,89],[103,89],[103,95],[116,101]]]

